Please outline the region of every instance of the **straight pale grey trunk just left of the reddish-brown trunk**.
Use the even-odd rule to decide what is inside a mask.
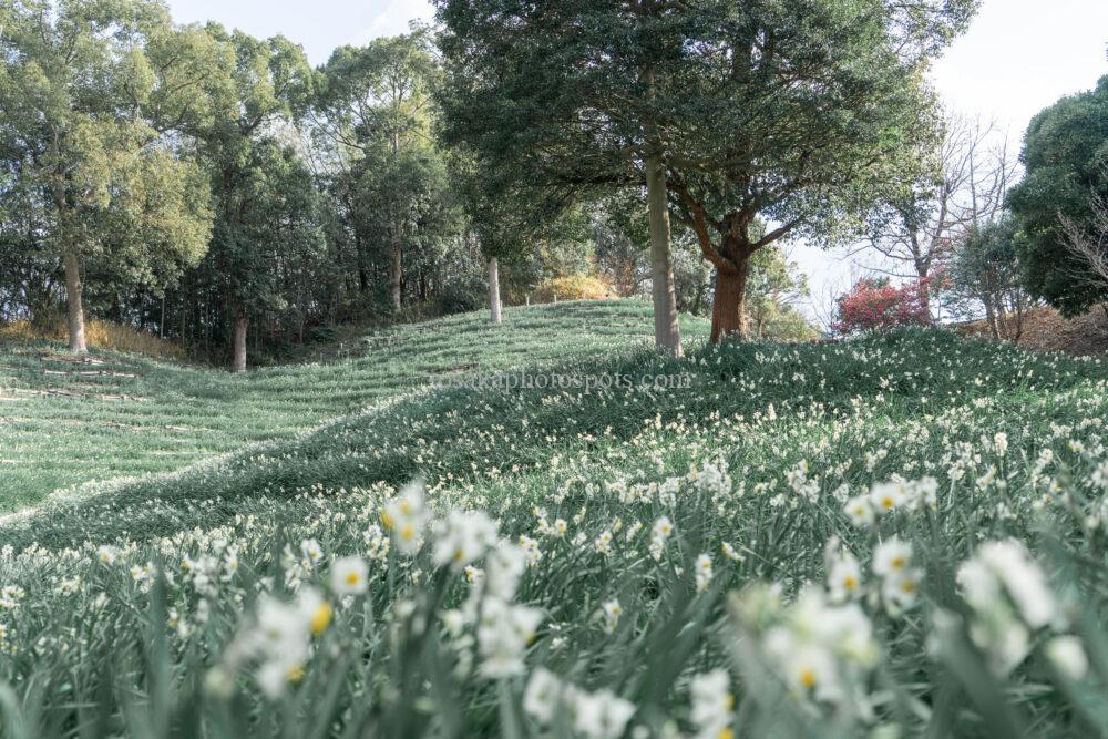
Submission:
[[[646,160],[646,199],[650,215],[650,275],[654,300],[654,343],[674,357],[684,355],[674,290],[674,255],[670,250],[669,193],[666,165],[660,156]]]

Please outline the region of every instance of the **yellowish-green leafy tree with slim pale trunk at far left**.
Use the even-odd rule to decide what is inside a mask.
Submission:
[[[164,285],[207,246],[207,186],[175,136],[211,107],[203,49],[154,0],[9,2],[0,29],[0,150],[16,173],[0,194],[42,214],[70,350],[84,352],[90,259]]]

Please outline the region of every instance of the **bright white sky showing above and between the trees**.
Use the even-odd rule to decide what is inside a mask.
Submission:
[[[168,0],[179,22],[217,20],[248,33],[281,33],[321,64],[342,44],[403,32],[430,19],[425,0]],[[952,110],[985,120],[1018,142],[1032,116],[1108,74],[1108,0],[984,0],[970,32],[934,70]],[[864,257],[797,246],[812,286],[811,312],[864,273]],[[861,260],[861,264],[860,264]]]

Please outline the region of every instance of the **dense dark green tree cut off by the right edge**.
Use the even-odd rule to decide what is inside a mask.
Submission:
[[[1095,204],[1108,197],[1106,141],[1108,76],[1032,120],[1022,154],[1026,176],[1008,196],[1026,236],[1019,243],[1024,283],[1067,317],[1108,300],[1108,286],[1088,278],[1087,260],[1067,240],[1067,230],[1095,229]]]

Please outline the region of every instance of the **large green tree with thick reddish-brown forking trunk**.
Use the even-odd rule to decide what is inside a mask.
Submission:
[[[698,6],[696,53],[667,81],[684,100],[667,162],[678,213],[716,267],[714,341],[745,333],[755,253],[788,236],[843,240],[911,165],[931,105],[922,70],[975,7]],[[756,237],[759,218],[769,225]]]

